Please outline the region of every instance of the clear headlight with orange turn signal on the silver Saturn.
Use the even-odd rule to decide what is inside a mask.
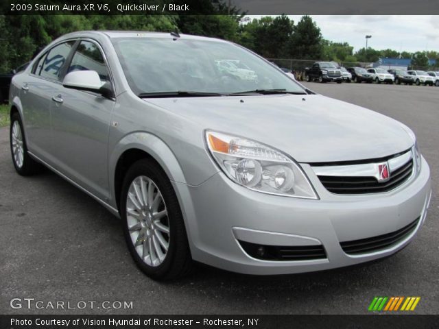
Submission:
[[[219,168],[237,184],[262,193],[318,199],[302,169],[281,151],[211,131],[206,131],[206,145]]]

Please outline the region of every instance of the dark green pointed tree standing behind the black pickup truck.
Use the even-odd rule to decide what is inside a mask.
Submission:
[[[310,16],[302,16],[289,38],[288,52],[290,58],[319,60],[322,58],[323,45],[320,28]]]

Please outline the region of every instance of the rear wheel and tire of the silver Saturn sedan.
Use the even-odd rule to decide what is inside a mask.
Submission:
[[[14,112],[11,116],[9,139],[12,163],[16,172],[22,176],[38,173],[42,165],[27,154],[25,131],[18,112]]]

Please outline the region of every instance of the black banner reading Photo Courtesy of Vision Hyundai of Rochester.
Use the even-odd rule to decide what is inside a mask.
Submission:
[[[1,315],[0,328],[439,328],[437,315]]]

